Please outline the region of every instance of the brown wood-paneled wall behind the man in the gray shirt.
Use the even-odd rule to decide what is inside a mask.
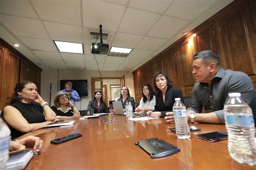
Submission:
[[[192,56],[203,50],[218,52],[224,69],[247,73],[256,87],[255,10],[254,0],[234,1],[133,71],[136,101],[142,98],[142,85],[153,85],[154,74],[161,70],[184,96],[192,96]]]

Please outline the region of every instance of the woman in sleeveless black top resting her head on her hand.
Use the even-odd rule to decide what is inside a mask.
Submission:
[[[12,138],[58,121],[55,112],[37,93],[37,87],[31,81],[17,83],[14,90],[10,105],[3,109],[3,119],[11,130]]]

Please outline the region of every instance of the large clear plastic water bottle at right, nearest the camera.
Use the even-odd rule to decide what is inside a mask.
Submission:
[[[240,164],[256,165],[254,120],[252,109],[240,93],[229,93],[224,106],[228,132],[228,151]]]

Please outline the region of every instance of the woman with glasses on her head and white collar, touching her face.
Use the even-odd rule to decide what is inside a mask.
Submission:
[[[60,121],[78,120],[81,117],[76,106],[70,102],[68,93],[57,93],[54,97],[54,106],[51,106],[51,109]]]

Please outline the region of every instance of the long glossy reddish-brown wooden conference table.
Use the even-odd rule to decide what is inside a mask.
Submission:
[[[118,121],[103,123],[113,117]],[[174,124],[165,119],[132,121],[123,115],[76,120],[73,126],[43,128],[23,135],[36,135],[44,146],[33,157],[26,169],[256,169],[239,164],[228,154],[227,140],[207,142],[197,134],[213,131],[226,132],[225,125],[196,124],[201,131],[191,132],[190,139],[177,139],[170,131]],[[51,144],[50,141],[72,133],[82,137]],[[159,138],[178,146],[180,152],[152,159],[137,141]]]

